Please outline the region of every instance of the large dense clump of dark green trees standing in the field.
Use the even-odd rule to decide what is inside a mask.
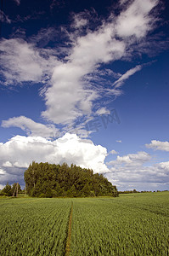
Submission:
[[[26,193],[38,197],[118,196],[118,191],[102,174],[80,166],[48,163],[32,164],[25,171]]]

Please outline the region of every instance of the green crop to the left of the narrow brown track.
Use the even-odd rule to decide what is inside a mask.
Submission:
[[[70,200],[0,201],[0,255],[65,255]]]

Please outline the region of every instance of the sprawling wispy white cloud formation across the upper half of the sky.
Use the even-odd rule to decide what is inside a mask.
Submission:
[[[109,97],[119,96],[121,90],[112,89],[112,86],[105,88],[103,84],[93,86],[86,79],[87,75],[97,72],[102,64],[127,57],[129,51],[131,55],[132,47],[135,51],[139,39],[153,28],[155,16],[149,12],[157,3],[155,0],[132,1],[120,15],[110,15],[108,20],[99,22],[101,25],[95,30],[86,26],[85,14],[76,15],[73,24],[76,28],[86,26],[86,31],[68,32],[62,27],[63,36],[69,37],[65,38],[63,49],[37,47],[35,37],[28,40],[30,43],[19,38],[3,39],[0,50],[4,84],[46,83],[47,87],[42,90],[46,110],[42,117],[55,124],[71,124],[78,117],[91,116],[93,102],[101,99],[103,93]],[[52,34],[51,29],[48,32]],[[37,34],[37,38],[41,36],[42,33]],[[139,68],[128,71],[118,83],[121,84]]]

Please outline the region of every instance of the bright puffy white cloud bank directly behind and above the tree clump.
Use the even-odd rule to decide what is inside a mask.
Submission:
[[[0,143],[1,183],[20,180],[32,160],[62,164],[76,164],[93,169],[93,172],[109,172],[104,164],[106,148],[94,145],[91,140],[81,139],[66,133],[63,137],[50,141],[43,137],[12,137],[7,143]]]

